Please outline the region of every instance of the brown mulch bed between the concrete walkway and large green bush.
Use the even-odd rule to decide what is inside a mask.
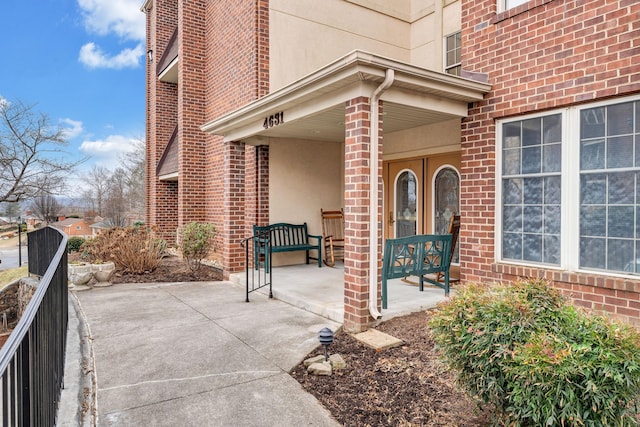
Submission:
[[[381,323],[377,330],[404,344],[379,352],[338,333],[329,351],[345,359],[346,369],[316,376],[300,364],[291,375],[345,426],[489,425],[491,413],[458,388],[441,362],[428,319],[429,312],[420,312]]]

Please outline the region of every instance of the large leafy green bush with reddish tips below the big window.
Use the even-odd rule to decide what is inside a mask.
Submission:
[[[464,287],[430,326],[460,384],[496,408],[496,425],[637,425],[640,335],[544,281]]]

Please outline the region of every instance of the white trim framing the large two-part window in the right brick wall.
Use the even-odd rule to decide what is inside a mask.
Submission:
[[[494,257],[500,264],[544,268],[586,274],[601,274],[612,277],[638,278],[638,274],[618,271],[580,269],[580,112],[584,109],[640,101],[640,95],[613,98],[589,104],[549,110],[541,113],[496,120],[496,198]],[[502,125],[537,117],[561,114],[562,120],[562,172],[561,172],[561,216],[560,216],[560,265],[536,263],[525,260],[502,258]]]

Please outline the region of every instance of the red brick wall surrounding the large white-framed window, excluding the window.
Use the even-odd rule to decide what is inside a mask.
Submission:
[[[531,0],[496,13],[462,0],[462,67],[492,85],[462,124],[460,258],[466,281],[540,276],[589,308],[640,324],[636,281],[496,265],[496,119],[640,92],[640,2]]]

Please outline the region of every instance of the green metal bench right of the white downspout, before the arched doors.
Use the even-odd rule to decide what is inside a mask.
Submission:
[[[382,260],[382,308],[387,308],[387,280],[407,276],[420,278],[420,291],[424,282],[444,289],[449,295],[449,267],[451,265],[451,234],[421,234],[387,239]],[[444,275],[444,282],[425,277],[427,274]]]

